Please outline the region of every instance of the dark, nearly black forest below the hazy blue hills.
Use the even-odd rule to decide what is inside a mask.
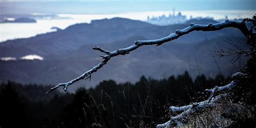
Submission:
[[[5,127],[156,127],[169,117],[170,105],[207,99],[205,89],[230,82],[219,74],[196,79],[187,71],[177,77],[145,78],[134,84],[104,80],[75,93],[44,93],[51,85],[0,85],[0,126]]]

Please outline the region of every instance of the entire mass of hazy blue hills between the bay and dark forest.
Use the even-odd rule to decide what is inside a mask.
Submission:
[[[0,61],[0,80],[38,84],[68,82],[102,60],[99,57],[102,53],[92,50],[93,46],[116,50],[132,45],[137,39],[156,39],[170,35],[176,29],[188,25],[157,26],[131,19],[112,18],[92,21],[91,24],[75,24],[61,31],[31,38],[6,41],[0,43],[0,57],[19,58],[35,54],[44,60]],[[94,86],[104,79],[135,82],[142,75],[164,78],[164,74],[178,75],[185,70],[191,70],[193,77],[201,73],[214,76],[220,71],[212,52],[233,47],[223,39],[246,48],[240,38],[244,37],[239,30],[228,28],[214,32],[192,32],[158,47],[142,46],[129,55],[114,57],[92,75],[90,82],[78,82],[77,85]],[[239,68],[239,64],[230,63],[231,59],[216,58],[224,75],[230,75]],[[245,58],[241,64],[244,62]],[[76,87],[70,87],[70,90]]]

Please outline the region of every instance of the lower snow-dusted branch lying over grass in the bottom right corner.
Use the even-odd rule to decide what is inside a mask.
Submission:
[[[205,108],[210,108],[218,105],[221,99],[227,98],[228,96],[231,95],[230,92],[221,94],[216,96],[217,93],[219,92],[224,92],[228,90],[232,90],[235,86],[237,86],[238,80],[246,76],[244,73],[237,72],[232,75],[233,81],[225,86],[215,86],[213,89],[206,89],[205,91],[211,92],[211,96],[207,99],[204,100],[203,102],[199,103],[193,103],[190,105],[186,106],[170,106],[169,110],[177,113],[177,112],[182,112],[178,114],[175,117],[171,117],[170,120],[164,124],[158,124],[157,127],[172,127],[172,126],[181,126],[183,124],[183,120],[186,119],[189,115],[192,115],[195,112],[201,111]]]

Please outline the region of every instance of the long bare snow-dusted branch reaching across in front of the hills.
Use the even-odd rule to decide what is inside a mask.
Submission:
[[[161,45],[163,43],[166,42],[170,42],[174,39],[179,38],[180,36],[186,35],[187,33],[190,33],[192,31],[217,31],[217,30],[221,30],[224,28],[237,28],[239,29],[245,37],[250,36],[250,30],[247,29],[247,26],[245,24],[245,21],[242,22],[234,22],[234,21],[225,21],[225,22],[221,22],[221,23],[216,23],[216,24],[208,24],[208,25],[200,25],[200,24],[193,24],[191,23],[190,26],[188,26],[185,29],[182,30],[176,30],[175,33],[171,33],[169,36],[160,38],[160,39],[153,39],[153,40],[149,40],[149,41],[135,41],[133,45],[127,47],[127,48],[123,48],[123,49],[118,49],[115,51],[107,51],[104,49],[101,49],[99,47],[95,47],[93,48],[94,50],[98,50],[100,52],[105,53],[106,55],[102,55],[101,57],[104,59],[102,62],[100,62],[98,65],[94,66],[92,69],[86,71],[85,73],[83,73],[81,76],[71,80],[70,82],[66,82],[66,83],[60,83],[55,87],[52,87],[48,92],[49,93],[55,89],[57,89],[60,86],[63,86],[63,90],[66,91],[68,89],[69,85],[72,85],[73,83],[81,80],[81,79],[85,79],[86,77],[90,77],[90,75],[93,72],[96,72],[98,69],[102,68],[103,65],[105,65],[112,57],[118,56],[118,55],[126,55],[129,52],[136,50],[137,48],[139,48],[140,46],[143,45]]]

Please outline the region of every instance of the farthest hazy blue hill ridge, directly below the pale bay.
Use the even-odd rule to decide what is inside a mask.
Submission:
[[[62,31],[0,43],[0,57],[22,57],[32,53],[43,57],[52,56],[52,54],[61,55],[67,51],[76,50],[85,44],[107,44],[134,36],[156,39],[168,36],[177,29],[186,28],[188,25],[157,26],[126,18],[96,20],[92,21],[91,24],[71,25]],[[225,35],[240,36],[241,33],[232,28],[218,32],[192,32],[177,39],[177,42],[201,42]]]

